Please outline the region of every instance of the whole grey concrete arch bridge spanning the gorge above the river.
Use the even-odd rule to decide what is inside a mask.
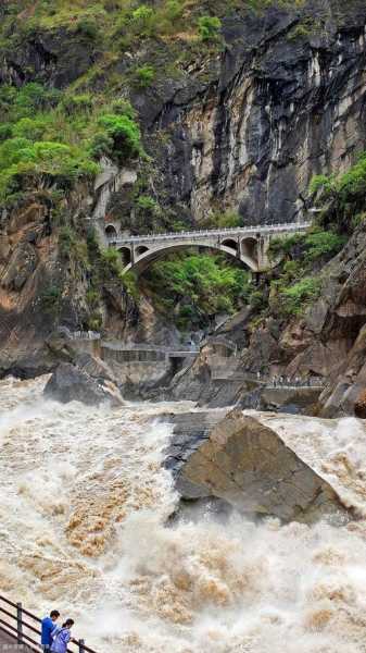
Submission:
[[[265,272],[274,267],[269,260],[270,239],[301,233],[311,226],[311,222],[292,224],[273,224],[264,226],[244,226],[167,234],[147,234],[144,236],[122,236],[115,225],[105,226],[105,236],[110,247],[121,252],[124,273],[129,270],[143,272],[153,261],[172,251],[188,247],[207,247],[222,251],[240,260],[253,272]]]

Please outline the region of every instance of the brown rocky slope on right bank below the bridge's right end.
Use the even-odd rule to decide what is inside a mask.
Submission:
[[[342,251],[321,271],[323,291],[319,299],[301,318],[289,320],[268,316],[252,330],[253,315],[228,320],[201,350],[199,358],[173,383],[176,397],[200,401],[202,404],[229,405],[239,402],[247,407],[263,408],[263,393],[255,383],[230,382],[230,374],[215,382],[210,350],[220,336],[238,344],[237,373],[257,373],[263,379],[285,375],[291,379],[318,378],[325,390],[318,401],[314,396],[305,414],[324,417],[358,415],[365,410],[366,358],[366,227],[358,227]],[[212,344],[211,344],[212,343]],[[230,359],[228,359],[230,361]],[[229,362],[227,364],[229,366]],[[262,394],[262,402],[261,402]],[[283,404],[289,403],[283,401]],[[301,412],[304,397],[290,404]],[[306,404],[306,402],[305,402]]]

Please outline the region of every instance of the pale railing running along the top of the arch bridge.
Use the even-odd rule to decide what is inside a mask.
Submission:
[[[126,244],[132,245],[134,243],[144,243],[144,242],[160,242],[160,241],[180,241],[180,239],[200,239],[207,238],[212,236],[228,236],[228,235],[247,235],[247,234],[270,234],[270,233],[280,233],[280,232],[299,232],[306,231],[310,226],[312,226],[312,222],[301,222],[301,223],[283,223],[283,224],[268,224],[268,225],[260,225],[256,224],[254,226],[240,226],[240,227],[225,227],[225,229],[211,229],[211,230],[197,230],[193,232],[171,232],[165,234],[144,234],[142,236],[108,236],[111,243],[115,243],[117,245]]]

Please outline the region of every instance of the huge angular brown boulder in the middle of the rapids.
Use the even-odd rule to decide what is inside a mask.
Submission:
[[[330,484],[253,417],[234,410],[200,433],[188,443],[178,429],[169,449],[168,466],[182,498],[216,497],[242,513],[282,520],[313,521],[345,513]]]

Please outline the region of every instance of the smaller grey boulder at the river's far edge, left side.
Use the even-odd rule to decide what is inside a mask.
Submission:
[[[81,402],[98,406],[102,402],[111,402],[113,406],[122,406],[124,403],[114,383],[94,379],[68,362],[59,365],[45,387],[45,395],[62,404]]]

